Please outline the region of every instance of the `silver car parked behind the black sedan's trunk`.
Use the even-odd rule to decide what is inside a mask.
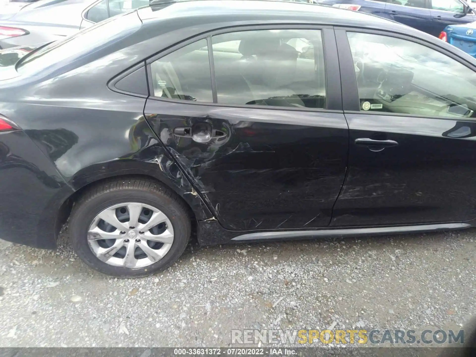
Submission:
[[[40,0],[0,12],[0,49],[56,41],[149,0]]]

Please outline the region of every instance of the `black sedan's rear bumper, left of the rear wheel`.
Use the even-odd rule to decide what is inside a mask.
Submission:
[[[56,248],[58,207],[72,192],[24,132],[0,133],[2,239]]]

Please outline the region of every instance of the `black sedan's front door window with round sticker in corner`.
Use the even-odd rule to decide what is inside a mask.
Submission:
[[[476,74],[421,44],[347,32],[360,110],[410,116],[475,118]]]

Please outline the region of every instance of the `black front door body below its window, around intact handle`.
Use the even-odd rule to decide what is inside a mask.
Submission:
[[[418,224],[476,217],[476,123],[346,114],[349,169],[331,226]],[[371,151],[358,138],[394,140]]]

